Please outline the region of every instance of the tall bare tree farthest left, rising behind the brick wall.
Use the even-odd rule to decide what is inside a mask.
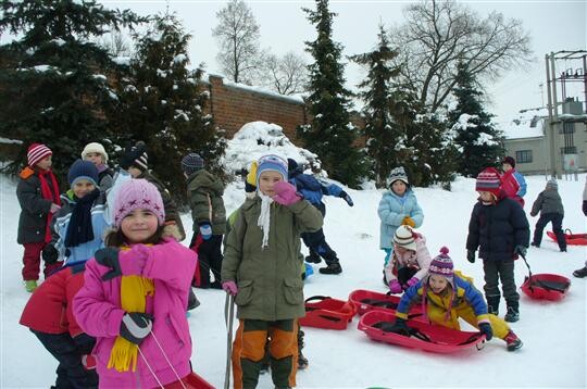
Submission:
[[[242,0],[232,0],[216,13],[218,24],[212,35],[220,45],[216,55],[223,71],[235,83],[250,84],[259,66],[259,25]]]

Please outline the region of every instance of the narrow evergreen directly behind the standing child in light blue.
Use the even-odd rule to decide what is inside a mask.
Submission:
[[[379,25],[378,38],[375,50],[353,55],[351,60],[369,66],[366,78],[359,84],[359,88],[362,88],[359,96],[365,102],[362,113],[365,117],[366,152],[373,161],[371,173],[380,188],[386,186],[389,173],[398,165],[395,147],[401,131],[394,118],[397,102],[389,92],[391,78],[400,73],[398,67],[390,64],[397,52],[389,47],[383,25]]]

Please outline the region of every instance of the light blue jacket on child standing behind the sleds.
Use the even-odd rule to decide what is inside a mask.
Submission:
[[[377,214],[382,219],[379,227],[379,247],[382,249],[391,249],[394,247],[394,235],[401,225],[405,216],[410,216],[415,228],[419,228],[424,222],[424,213],[417,204],[417,199],[412,189],[405,190],[402,197],[387,190],[383,193]]]

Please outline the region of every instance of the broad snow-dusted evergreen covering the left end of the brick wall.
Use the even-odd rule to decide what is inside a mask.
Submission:
[[[182,158],[197,152],[207,168],[220,172],[226,141],[203,109],[209,99],[202,71],[187,68],[191,36],[174,14],[154,16],[143,36],[135,36],[136,57],[121,83],[118,140],[147,143],[149,167],[172,195],[185,198]]]

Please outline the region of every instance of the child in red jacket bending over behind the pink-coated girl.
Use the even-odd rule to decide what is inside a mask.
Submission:
[[[66,265],[38,287],[20,323],[30,329],[59,361],[52,388],[97,388],[98,375],[91,350],[96,340],[75,321],[72,302],[84,284],[85,261]]]

